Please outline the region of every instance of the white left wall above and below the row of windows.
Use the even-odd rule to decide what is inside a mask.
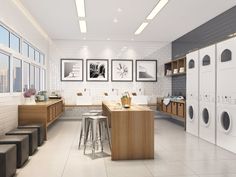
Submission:
[[[1,0],[0,21],[28,40],[47,56],[48,41],[32,26],[11,0]],[[1,50],[1,47],[0,47]],[[18,107],[22,94],[0,94],[0,135],[18,124]]]

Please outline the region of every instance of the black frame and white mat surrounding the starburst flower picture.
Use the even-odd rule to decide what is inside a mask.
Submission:
[[[115,78],[114,72],[115,72],[115,67],[117,66],[116,62],[130,63],[129,68],[128,68],[128,70],[129,69],[131,70],[130,72],[128,71],[129,72],[128,74],[130,75],[130,76],[128,76],[129,79],[122,79],[122,78],[117,79],[117,78]],[[134,70],[133,70],[133,60],[130,60],[130,59],[112,59],[111,60],[111,81],[112,82],[133,82],[133,75],[134,75],[133,72],[134,72]]]

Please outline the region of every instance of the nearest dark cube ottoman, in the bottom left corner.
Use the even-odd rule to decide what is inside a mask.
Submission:
[[[0,176],[12,177],[16,173],[16,145],[0,145]]]

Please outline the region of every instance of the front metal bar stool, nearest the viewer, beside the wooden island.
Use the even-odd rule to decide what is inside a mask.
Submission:
[[[88,142],[88,134],[89,131],[91,131],[91,135],[92,135],[92,154],[93,157],[95,155],[95,144],[98,143],[98,141],[100,141],[101,144],[101,150],[103,151],[103,137],[102,137],[102,133],[106,133],[107,137],[108,137],[108,143],[109,143],[109,147],[111,150],[111,141],[110,141],[110,132],[109,132],[109,124],[108,124],[108,117],[107,116],[89,116],[88,118],[85,119],[85,142],[84,142],[84,154],[86,151],[86,145]],[[103,128],[105,128],[105,132],[103,131]],[[97,132],[99,134],[99,136],[97,135]]]

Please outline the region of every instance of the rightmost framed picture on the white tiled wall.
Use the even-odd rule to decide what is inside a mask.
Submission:
[[[136,81],[157,81],[157,60],[136,60]]]

